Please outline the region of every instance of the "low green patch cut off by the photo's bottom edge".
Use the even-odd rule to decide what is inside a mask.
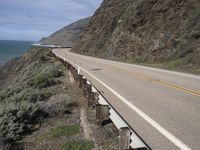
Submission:
[[[61,150],[91,150],[94,147],[94,143],[92,141],[72,141],[65,143]]]

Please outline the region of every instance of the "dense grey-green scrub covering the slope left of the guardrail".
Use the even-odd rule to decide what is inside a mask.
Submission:
[[[64,66],[44,48],[32,48],[3,65],[0,68],[0,137],[18,140],[50,116],[46,102],[65,91],[63,75]]]

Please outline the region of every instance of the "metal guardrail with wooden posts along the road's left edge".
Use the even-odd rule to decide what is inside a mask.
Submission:
[[[84,72],[81,71],[81,67],[75,64],[74,62],[70,60],[66,60],[65,57],[60,56],[56,54],[53,51],[54,55],[64,62],[70,64],[74,69],[76,69],[76,72],[78,75],[81,75],[84,79],[87,80],[87,78],[84,76]],[[120,136],[126,136],[126,137],[121,137],[121,148],[122,147],[127,147],[125,149],[144,149],[144,150],[149,150],[150,148],[143,142],[143,140],[136,134],[136,132],[126,123],[126,121],[119,115],[119,113],[113,108],[113,106],[104,98],[104,96],[99,92],[95,86],[90,82],[87,81],[86,84],[91,85],[91,92],[93,93],[98,93],[98,103],[102,106],[108,106],[109,107],[109,118],[112,120],[116,128],[120,131],[121,135]],[[124,134],[125,133],[125,134]],[[120,139],[120,137],[119,137]],[[125,139],[125,140],[124,140]],[[122,144],[125,144],[128,146],[124,146]]]

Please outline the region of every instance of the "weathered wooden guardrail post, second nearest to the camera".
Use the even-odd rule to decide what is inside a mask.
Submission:
[[[98,124],[101,124],[104,120],[109,119],[109,110],[110,107],[108,105],[96,105],[96,119]]]

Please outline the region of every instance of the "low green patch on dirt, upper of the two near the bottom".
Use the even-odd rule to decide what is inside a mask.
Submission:
[[[58,138],[61,136],[72,136],[80,132],[80,125],[71,125],[71,126],[58,126],[51,130],[51,136],[53,138]]]

